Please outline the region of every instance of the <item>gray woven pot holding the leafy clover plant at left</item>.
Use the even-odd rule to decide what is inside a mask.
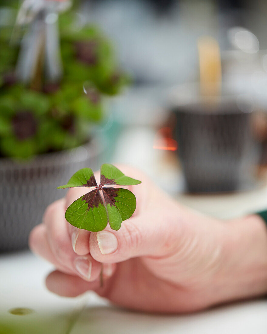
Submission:
[[[0,252],[27,247],[30,230],[48,204],[64,196],[55,190],[78,169],[99,168],[102,147],[92,140],[72,150],[37,156],[28,163],[0,159]]]

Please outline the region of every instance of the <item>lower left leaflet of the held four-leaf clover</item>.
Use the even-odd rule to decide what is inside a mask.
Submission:
[[[66,220],[73,226],[98,232],[107,225],[107,212],[98,189],[78,198],[66,210]]]

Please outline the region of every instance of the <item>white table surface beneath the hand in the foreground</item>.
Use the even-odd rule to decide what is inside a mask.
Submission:
[[[1,334],[267,332],[267,299],[231,304],[192,315],[148,315],[108,306],[94,293],[74,299],[50,293],[45,288],[44,279],[52,267],[30,252],[1,256],[0,268],[0,324],[10,330],[1,332],[3,327],[0,325]],[[35,312],[25,316],[9,314],[8,310],[14,307],[31,308]],[[14,327],[19,328],[18,331],[13,330]]]

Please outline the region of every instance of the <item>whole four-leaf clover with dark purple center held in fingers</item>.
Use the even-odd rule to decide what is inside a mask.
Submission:
[[[103,164],[100,168],[99,185],[96,183],[93,171],[90,168],[82,168],[69,179],[67,184],[57,189],[94,188],[70,204],[65,217],[73,226],[98,232],[103,230],[107,223],[114,230],[120,229],[121,222],[130,218],[136,209],[136,197],[131,191],[107,186],[140,183],[141,181],[125,176],[115,166]]]

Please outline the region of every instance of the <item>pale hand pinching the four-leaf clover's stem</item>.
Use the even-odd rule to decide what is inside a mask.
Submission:
[[[208,218],[179,205],[140,171],[121,169],[142,184],[127,187],[137,209],[120,230],[88,232],[66,222],[65,210],[83,188],[51,204],[32,230],[32,251],[57,269],[46,279],[49,290],[68,297],[94,290],[114,304],[150,312],[191,312],[267,292],[261,218]]]

